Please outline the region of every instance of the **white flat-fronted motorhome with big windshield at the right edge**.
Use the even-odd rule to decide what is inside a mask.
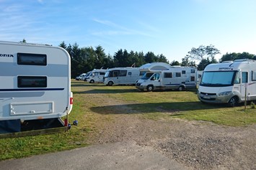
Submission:
[[[231,107],[256,100],[256,61],[242,59],[206,66],[198,99],[203,103],[228,103]]]

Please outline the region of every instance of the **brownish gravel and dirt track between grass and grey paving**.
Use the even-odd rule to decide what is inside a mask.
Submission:
[[[120,104],[116,102],[101,101],[102,105]],[[122,114],[113,115],[111,122],[101,121],[100,133],[91,143],[135,141],[139,146],[153,147],[188,169],[256,169],[256,125],[228,127],[178,119],[152,121],[133,114],[134,110],[125,105],[117,109]]]

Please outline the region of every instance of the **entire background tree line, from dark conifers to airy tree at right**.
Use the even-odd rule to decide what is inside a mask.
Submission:
[[[26,42],[23,39],[21,42]],[[224,61],[233,61],[239,59],[256,60],[256,55],[249,52],[242,53],[226,53],[222,55],[219,61],[216,60],[216,55],[220,55],[219,49],[212,44],[208,46],[200,45],[198,48],[193,47],[187,55],[182,58],[182,62],[173,60],[169,62],[164,55],[155,55],[154,52],[128,52],[126,49],[119,49],[113,56],[105,53],[105,49],[98,45],[97,47],[79,47],[79,44],[67,45],[64,41],[59,44],[69,52],[71,57],[71,77],[76,77],[82,72],[89,72],[93,69],[112,68],[112,67],[140,67],[151,62],[166,62],[169,65],[193,66],[198,70],[211,64]],[[198,63],[198,64],[197,64]]]

